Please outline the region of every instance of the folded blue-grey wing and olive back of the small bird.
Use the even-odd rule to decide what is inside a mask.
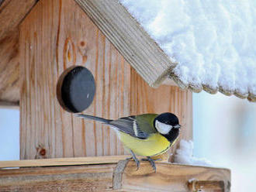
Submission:
[[[153,119],[154,116],[156,116],[154,114],[147,115],[150,115],[150,117]],[[148,119],[145,117],[146,115],[129,116],[113,120],[107,124],[112,125],[120,132],[125,132],[126,134],[129,134],[135,138],[147,139],[148,136],[152,133],[155,133],[156,130],[154,129],[153,122],[150,120],[148,121]]]

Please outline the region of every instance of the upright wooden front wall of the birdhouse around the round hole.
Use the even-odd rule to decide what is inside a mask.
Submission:
[[[20,26],[20,158],[123,155],[115,132],[64,111],[57,79],[82,65],[95,77],[88,115],[119,118],[142,112],[175,112],[181,138],[192,138],[192,94],[178,87],[149,87],[73,0],[43,0]]]

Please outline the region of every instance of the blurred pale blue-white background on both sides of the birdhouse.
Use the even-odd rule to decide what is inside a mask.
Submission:
[[[193,94],[194,156],[230,168],[232,191],[256,188],[256,103]],[[19,110],[0,108],[0,160],[19,159]]]

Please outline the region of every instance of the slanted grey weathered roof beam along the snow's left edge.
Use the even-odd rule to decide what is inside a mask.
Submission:
[[[123,57],[152,87],[175,67],[157,43],[117,0],[75,0]]]

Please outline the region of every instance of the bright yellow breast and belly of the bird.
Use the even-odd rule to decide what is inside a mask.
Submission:
[[[147,139],[137,139],[124,132],[119,132],[119,139],[124,146],[133,150],[139,156],[156,156],[166,152],[171,143],[163,135],[154,133]]]

